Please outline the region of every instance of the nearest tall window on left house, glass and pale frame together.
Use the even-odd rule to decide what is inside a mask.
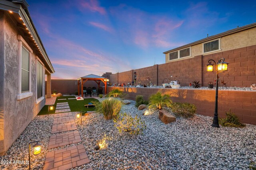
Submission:
[[[18,36],[18,42],[19,72],[17,100],[21,100],[33,95],[31,92],[31,56],[33,51],[20,35]]]

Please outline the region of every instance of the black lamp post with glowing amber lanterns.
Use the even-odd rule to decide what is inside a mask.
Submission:
[[[216,95],[215,95],[215,110],[214,110],[214,117],[212,122],[212,127],[219,128],[219,119],[218,119],[218,82],[219,82],[219,73],[223,73],[224,71],[228,70],[228,63],[224,62],[224,58],[221,58],[218,63],[212,59],[208,61],[209,64],[206,65],[206,72],[213,72],[214,71],[214,65],[215,65],[215,71],[216,71]],[[212,64],[212,61],[214,64]]]

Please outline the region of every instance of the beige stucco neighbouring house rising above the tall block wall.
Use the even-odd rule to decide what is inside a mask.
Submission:
[[[169,63],[255,44],[256,23],[253,23],[165,51],[165,61]]]

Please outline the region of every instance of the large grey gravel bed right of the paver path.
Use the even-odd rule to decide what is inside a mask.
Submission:
[[[213,128],[212,117],[202,115],[165,125],[157,112],[143,116],[130,101],[121,112],[139,115],[147,125],[144,134],[119,134],[112,120],[97,113],[83,117],[78,130],[90,163],[74,169],[248,169],[256,160],[254,125]],[[95,150],[102,139],[108,146]]]

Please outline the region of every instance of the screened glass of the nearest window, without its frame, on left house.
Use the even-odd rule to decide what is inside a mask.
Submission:
[[[22,46],[21,55],[21,92],[29,91],[29,53]]]

